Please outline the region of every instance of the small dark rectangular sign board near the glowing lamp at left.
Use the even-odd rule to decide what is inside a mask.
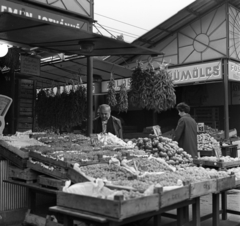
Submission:
[[[21,56],[21,73],[40,75],[40,59],[36,57]]]

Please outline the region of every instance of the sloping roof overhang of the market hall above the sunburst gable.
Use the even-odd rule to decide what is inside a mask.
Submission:
[[[134,40],[131,44],[153,49],[158,43],[183,28],[189,22],[224,3],[230,3],[231,5],[240,8],[239,0],[196,0],[180,10],[174,16]],[[114,64],[125,64],[131,61],[131,59],[134,59],[133,55],[124,55],[121,57],[110,56],[106,61]]]

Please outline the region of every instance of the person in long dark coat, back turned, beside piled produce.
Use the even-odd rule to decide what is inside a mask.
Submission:
[[[197,157],[197,123],[189,114],[190,106],[179,103],[177,110],[180,115],[173,140],[178,142],[179,147],[183,148],[193,158]]]

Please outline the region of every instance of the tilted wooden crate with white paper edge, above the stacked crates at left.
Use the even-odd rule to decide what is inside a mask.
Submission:
[[[43,167],[41,164],[42,163],[32,163],[29,160],[27,161],[27,167],[29,167],[32,170],[35,170],[41,174],[49,175],[57,179],[67,179],[67,170],[63,168],[56,169],[56,167],[53,170],[50,170],[46,167]]]

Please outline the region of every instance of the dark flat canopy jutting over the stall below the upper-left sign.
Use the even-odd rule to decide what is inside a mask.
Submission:
[[[0,40],[17,43],[19,46],[40,47],[53,53],[67,55],[161,55],[160,52],[154,50],[81,29],[51,24],[10,13],[0,14]],[[81,52],[79,41],[93,42],[93,51]]]

